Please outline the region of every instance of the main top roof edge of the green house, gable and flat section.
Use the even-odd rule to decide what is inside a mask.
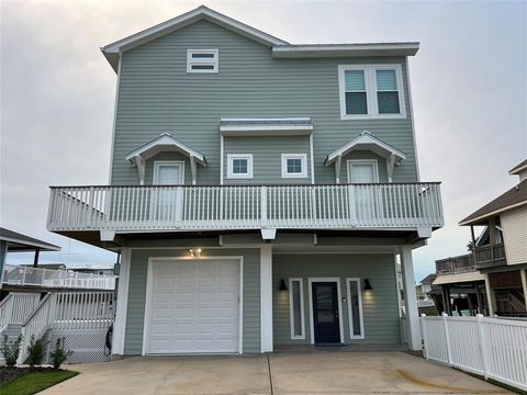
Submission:
[[[113,69],[117,71],[121,53],[201,20],[215,23],[262,45],[272,47],[272,56],[276,58],[413,56],[419,49],[419,43],[416,42],[292,45],[281,38],[201,5],[179,16],[105,45],[101,50]]]

